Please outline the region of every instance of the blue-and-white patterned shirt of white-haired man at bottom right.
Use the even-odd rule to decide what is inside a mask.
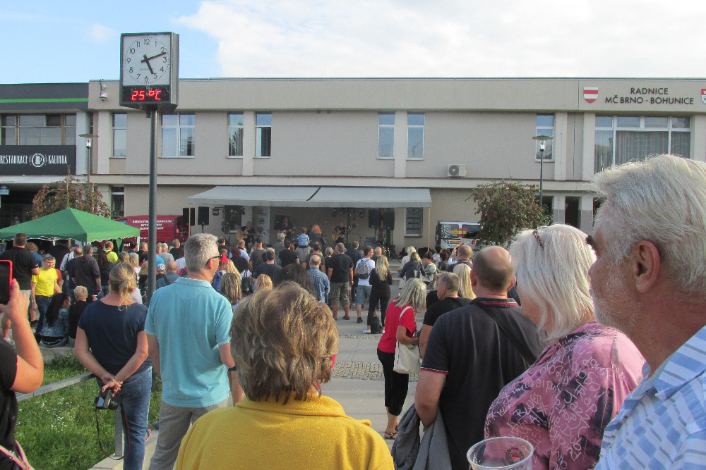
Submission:
[[[596,469],[706,469],[706,326],[628,396]]]

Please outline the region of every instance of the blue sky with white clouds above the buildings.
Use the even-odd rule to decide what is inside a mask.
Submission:
[[[706,76],[703,0],[0,0],[0,83],[119,79],[121,32],[180,78]]]

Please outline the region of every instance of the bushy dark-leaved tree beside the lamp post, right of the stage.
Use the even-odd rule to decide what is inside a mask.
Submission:
[[[466,199],[473,199],[481,214],[478,244],[506,245],[525,228],[549,225],[551,216],[537,205],[534,192],[537,185],[521,185],[496,181],[478,185]]]

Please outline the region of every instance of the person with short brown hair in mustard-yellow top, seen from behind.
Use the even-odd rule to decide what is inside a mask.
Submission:
[[[393,469],[369,421],[346,416],[321,395],[338,351],[338,329],[325,304],[290,282],[260,290],[235,311],[231,335],[245,397],[193,423],[177,470]],[[335,443],[335,452],[324,441]]]

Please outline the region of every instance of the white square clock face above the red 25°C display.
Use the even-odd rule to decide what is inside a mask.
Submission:
[[[122,85],[169,85],[171,47],[169,34],[123,35]]]

